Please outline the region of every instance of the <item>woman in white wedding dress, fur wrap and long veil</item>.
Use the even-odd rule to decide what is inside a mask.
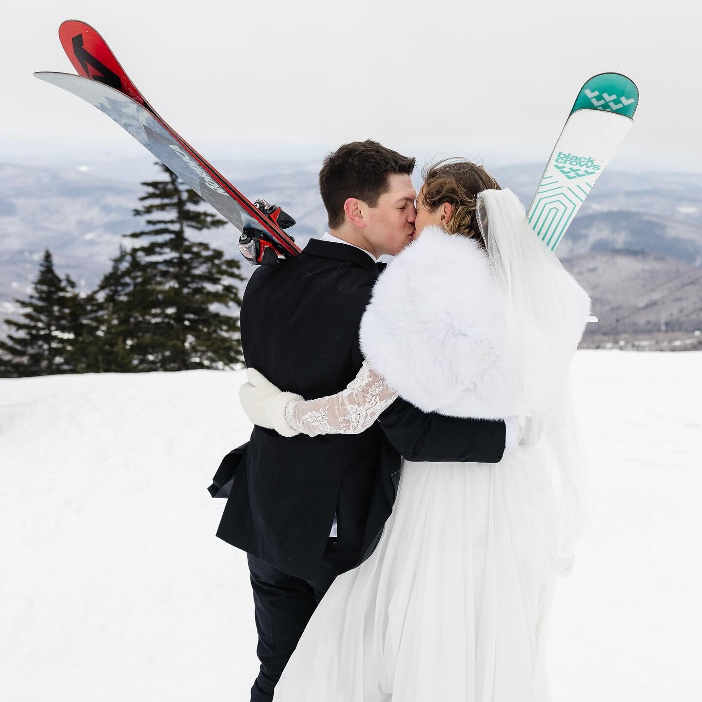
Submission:
[[[443,162],[424,179],[416,241],[362,319],[357,378],[305,401],[250,369],[242,403],[257,424],[315,436],[362,432],[399,395],[449,416],[517,415],[519,446],[497,464],[404,463],[376,550],[322,599],[276,702],[550,699],[548,613],[583,522],[569,366],[590,298],[481,166]]]

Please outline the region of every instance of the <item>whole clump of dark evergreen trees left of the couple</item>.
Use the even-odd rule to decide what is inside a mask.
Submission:
[[[120,247],[98,289],[81,296],[70,276],[62,281],[46,251],[25,307],[25,320],[6,320],[15,332],[0,341],[0,373],[30,376],[72,372],[127,372],[225,368],[241,362],[239,261],[187,238],[187,229],[222,227],[198,208],[201,198],[165,166],[166,180],[147,181],[145,231],[150,239]],[[155,215],[155,216],[154,216]]]

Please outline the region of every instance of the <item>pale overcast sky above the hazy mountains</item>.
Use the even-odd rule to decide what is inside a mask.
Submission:
[[[3,11],[0,161],[25,144],[130,140],[32,77],[73,72],[65,19],[98,29],[196,148],[376,138],[420,159],[544,162],[578,88],[616,71],[641,99],[613,167],[702,171],[702,10],[689,0],[15,2]]]

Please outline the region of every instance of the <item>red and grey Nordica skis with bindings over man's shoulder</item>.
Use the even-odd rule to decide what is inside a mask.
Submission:
[[[254,205],[154,110],[133,84],[100,34],[85,22],[59,28],[61,44],[78,75],[34,75],[94,105],[145,146],[159,161],[241,232],[240,248],[251,263],[277,263],[300,253],[283,227],[294,224],[280,208]]]

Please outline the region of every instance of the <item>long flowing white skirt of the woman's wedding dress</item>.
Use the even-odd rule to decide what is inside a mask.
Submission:
[[[543,702],[557,548],[548,458],[404,463],[378,547],[334,581],[276,702]]]

